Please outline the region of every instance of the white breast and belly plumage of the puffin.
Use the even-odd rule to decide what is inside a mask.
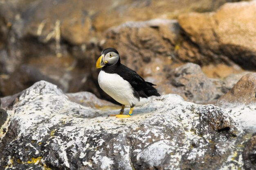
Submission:
[[[136,105],[139,102],[132,93],[133,88],[130,83],[118,74],[109,74],[101,70],[98,82],[104,92],[123,105]]]

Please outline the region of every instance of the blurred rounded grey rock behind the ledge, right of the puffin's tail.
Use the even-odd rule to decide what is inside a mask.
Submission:
[[[179,94],[186,101],[192,101],[194,103],[215,103],[245,73],[231,74],[223,79],[208,78],[202,72],[199,65],[187,63],[173,69],[167,74],[166,79],[168,79],[170,85],[166,88],[171,89],[172,93]],[[163,85],[166,86],[165,84]],[[161,86],[162,84],[160,84],[160,88]]]

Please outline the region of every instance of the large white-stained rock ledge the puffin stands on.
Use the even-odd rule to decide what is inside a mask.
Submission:
[[[200,170],[256,165],[255,136],[250,139],[255,129],[220,107],[168,94],[135,107],[129,119],[116,119],[107,116],[119,112],[113,105],[106,103],[106,111],[103,106],[75,103],[78,97],[69,96],[46,81],[18,94],[0,129],[2,169]]]

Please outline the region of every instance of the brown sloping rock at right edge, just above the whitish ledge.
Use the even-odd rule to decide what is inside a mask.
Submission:
[[[249,73],[243,76],[227,94],[220,97],[216,105],[226,107],[229,105],[249,105],[255,103],[256,73]]]

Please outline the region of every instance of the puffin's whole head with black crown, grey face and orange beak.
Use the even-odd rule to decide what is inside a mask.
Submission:
[[[120,63],[120,57],[116,49],[106,48],[101,52],[101,56],[96,62],[96,68],[111,66]]]

